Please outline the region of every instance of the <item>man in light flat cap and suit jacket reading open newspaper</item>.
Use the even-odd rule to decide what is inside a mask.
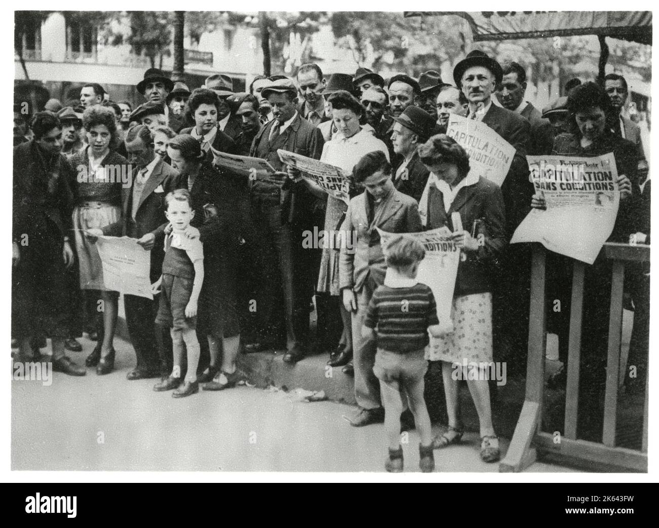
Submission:
[[[322,133],[297,111],[297,89],[291,80],[281,79],[266,86],[263,95],[272,106],[275,119],[264,126],[252,143],[250,156],[265,159],[277,171],[270,181],[252,182],[252,206],[260,232],[270,241],[273,269],[279,267],[279,280],[285,304],[285,329],[293,342],[284,361],[295,363],[302,359],[308,348],[309,302],[314,291],[314,258],[312,251],[302,249],[302,233],[322,225],[322,203],[304,186],[299,178],[289,178],[277,149],[293,151],[306,157],[320,159],[323,147]],[[291,173],[294,173],[291,170]],[[276,273],[276,271],[275,271]],[[276,275],[264,287],[266,307],[262,309],[265,329],[281,329],[273,322],[277,298]],[[272,332],[272,330],[270,330]],[[267,345],[283,345],[281,330],[277,335],[264,336],[264,341],[248,347],[255,351]],[[269,342],[268,342],[269,341]]]

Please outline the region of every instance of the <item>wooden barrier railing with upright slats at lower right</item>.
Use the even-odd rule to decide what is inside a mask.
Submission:
[[[545,256],[540,244],[533,248],[531,264],[529,358],[526,396],[507,454],[499,471],[521,471],[535,462],[540,454],[567,463],[587,464],[592,470],[647,471],[648,466],[648,379],[643,411],[641,450],[616,447],[616,411],[623,315],[623,282],[625,264],[649,262],[650,246],[606,243],[604,257],[612,260],[612,286],[609,319],[606,388],[604,393],[604,426],[602,443],[577,440],[579,408],[579,365],[581,359],[581,323],[583,311],[584,271],[586,264],[574,261],[572,299],[565,388],[565,429],[559,448],[550,433],[541,431],[544,398],[546,353]]]

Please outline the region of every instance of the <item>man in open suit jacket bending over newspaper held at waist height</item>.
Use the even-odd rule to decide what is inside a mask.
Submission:
[[[133,171],[130,186],[122,190],[123,214],[121,221],[103,228],[103,234],[136,238],[145,251],[151,250],[150,280],[153,284],[160,277],[165,257],[165,196],[173,190],[178,172],[154,153],[152,136],[143,124],[129,129],[126,149]],[[154,323],[158,304],[158,296],[154,300],[124,296],[126,325],[137,358],[135,369],[127,375],[130,380],[157,377],[171,361],[169,329]],[[169,367],[167,373],[171,371],[171,364]]]

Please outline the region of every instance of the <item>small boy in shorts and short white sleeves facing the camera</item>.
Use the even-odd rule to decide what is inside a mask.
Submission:
[[[198,238],[185,236],[185,229],[194,217],[190,193],[177,189],[167,194],[165,203],[165,216],[172,225],[172,231],[165,235],[162,275],[152,284],[152,291],[157,294],[162,287],[156,323],[170,329],[174,361],[171,375],[157,383],[154,390],[176,389],[172,396],[182,398],[199,392],[197,367],[200,348],[196,315],[204,282],[204,248]],[[188,369],[181,384],[184,344],[188,353]]]

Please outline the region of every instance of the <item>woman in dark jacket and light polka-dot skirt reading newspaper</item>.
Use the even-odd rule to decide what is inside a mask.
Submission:
[[[448,431],[436,436],[433,444],[443,448],[461,440],[458,383],[466,379],[480,421],[480,456],[485,462],[496,462],[499,439],[492,425],[488,376],[482,369],[492,365],[492,280],[494,265],[507,244],[503,195],[496,184],[469,174],[469,155],[444,134],[419,145],[418,155],[431,171],[426,227],[449,228],[463,252],[451,310],[454,330],[431,340],[428,348],[427,359],[443,361],[449,418]],[[453,213],[459,213],[463,230],[453,225]],[[478,379],[472,379],[469,371],[476,368]],[[461,377],[453,375],[456,369],[461,369]]]

